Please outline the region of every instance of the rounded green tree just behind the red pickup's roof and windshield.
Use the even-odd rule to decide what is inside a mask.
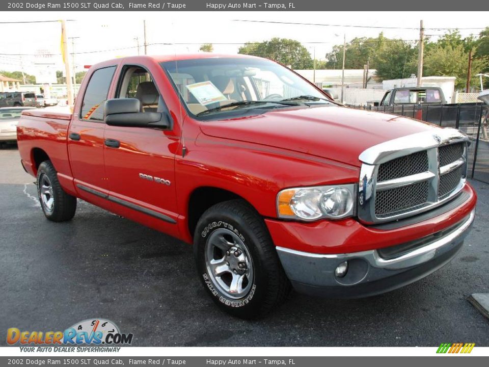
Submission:
[[[272,38],[259,43],[247,42],[239,47],[239,54],[260,56],[275,60],[292,69],[312,69],[311,54],[301,42],[287,38]]]

